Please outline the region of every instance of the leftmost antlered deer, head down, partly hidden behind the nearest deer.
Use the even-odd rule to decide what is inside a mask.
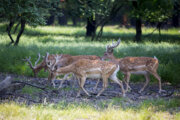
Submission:
[[[59,66],[61,65],[61,67],[67,66],[67,65],[69,65],[69,64],[72,64],[74,61],[77,61],[77,60],[79,60],[79,59],[91,59],[91,60],[100,59],[100,57],[95,56],[95,55],[71,56],[71,55],[67,55],[67,54],[61,54],[61,55],[60,55],[60,54],[56,54],[56,55],[55,55],[55,54],[51,54],[51,55],[50,55],[49,53],[47,53],[47,54],[48,54],[48,57],[46,57],[46,59],[43,59],[43,61],[42,61],[40,64],[37,65],[37,63],[39,62],[40,57],[41,57],[40,54],[38,54],[38,59],[37,59],[37,61],[35,62],[35,65],[34,65],[34,66],[32,65],[32,62],[31,62],[31,60],[30,60],[31,57],[24,59],[24,61],[27,61],[27,62],[28,62],[29,66],[30,66],[30,68],[33,70],[33,73],[34,73],[35,76],[37,76],[37,73],[38,73],[41,69],[43,69],[43,68],[44,68],[45,70],[48,70],[48,66],[51,66],[51,64],[54,64],[54,63],[55,63],[55,57],[58,57],[58,56],[61,56],[61,59],[56,60],[56,62],[58,62],[58,63],[59,63]],[[51,61],[51,62],[49,62],[49,61]],[[46,64],[46,62],[47,62],[47,64]],[[48,80],[51,80],[53,73],[52,73],[50,70],[48,70],[48,71],[49,71]],[[63,84],[64,81],[67,79],[67,77],[68,77],[69,74],[70,74],[70,73],[64,75],[64,78],[62,79],[62,82],[61,82],[61,84],[59,85],[58,88],[61,88],[61,87],[62,87],[62,84]],[[97,88],[98,83],[99,83],[99,80],[98,80],[96,86],[94,87],[94,89]],[[53,86],[55,87],[54,80],[52,80],[52,84],[53,84]]]

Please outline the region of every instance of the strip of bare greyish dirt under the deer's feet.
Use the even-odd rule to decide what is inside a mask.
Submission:
[[[7,90],[0,93],[0,101],[15,101],[25,102],[27,104],[38,104],[38,103],[59,103],[61,101],[66,102],[91,102],[97,103],[99,101],[111,101],[113,98],[122,98],[121,89],[116,83],[109,82],[108,88],[96,98],[98,91],[102,88],[102,82],[99,83],[97,90],[93,87],[96,84],[96,80],[87,79],[85,83],[85,89],[91,94],[88,97],[83,91],[80,97],[76,97],[79,86],[77,81],[66,80],[62,88],[57,89],[60,81],[56,80],[56,87],[48,84],[47,78],[33,78],[26,76],[18,76],[13,74],[0,73],[0,81],[4,80],[6,76],[11,76],[15,81],[23,81],[24,83],[15,83],[16,87],[8,88]],[[170,84],[163,83],[162,88],[166,92],[158,93],[158,84],[151,83],[141,94],[138,91],[141,89],[144,83],[130,83],[132,88],[131,91],[126,93],[127,105],[133,103],[138,104],[143,100],[149,99],[172,99],[180,98],[180,88],[173,87]],[[32,87],[31,85],[38,86]]]

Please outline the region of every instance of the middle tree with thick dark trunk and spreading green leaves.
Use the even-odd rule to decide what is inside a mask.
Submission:
[[[96,29],[100,26],[97,38],[102,36],[103,27],[111,21],[121,9],[125,0],[78,0],[81,15],[87,19],[86,36],[96,37]]]

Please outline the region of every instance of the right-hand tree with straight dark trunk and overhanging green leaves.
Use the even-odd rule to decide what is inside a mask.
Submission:
[[[160,32],[162,22],[172,15],[172,0],[136,0],[132,1],[132,16],[136,18],[135,41],[141,41],[142,20],[158,23]]]

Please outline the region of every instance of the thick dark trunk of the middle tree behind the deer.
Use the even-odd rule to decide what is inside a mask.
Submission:
[[[86,36],[94,37],[95,34],[96,34],[96,21],[93,20],[93,17],[87,18]]]

